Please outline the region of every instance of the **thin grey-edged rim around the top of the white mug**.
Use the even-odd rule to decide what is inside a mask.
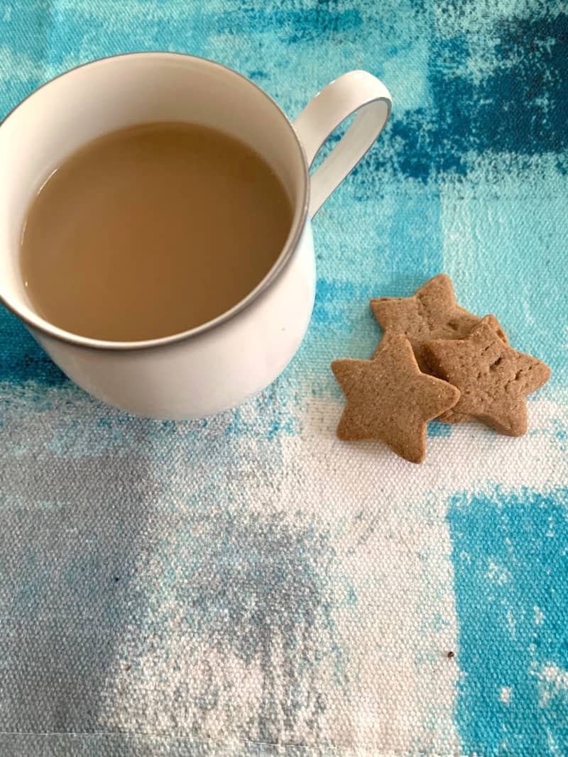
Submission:
[[[41,332],[43,335],[47,335],[51,338],[55,338],[58,341],[63,341],[67,344],[76,344],[78,347],[85,347],[87,349],[92,350],[113,350],[113,351],[120,351],[120,350],[148,350],[152,349],[154,347],[167,347],[170,344],[176,344],[180,341],[186,341],[187,339],[191,339],[193,337],[201,336],[205,332],[211,332],[214,329],[217,329],[219,326],[223,326],[224,323],[228,322],[229,320],[232,320],[235,316],[237,316],[239,313],[242,312],[242,310],[245,310],[251,304],[253,304],[254,301],[257,300],[261,296],[261,294],[264,294],[265,291],[267,291],[270,286],[273,285],[273,283],[276,281],[276,279],[280,276],[280,274],[286,269],[289,261],[292,259],[293,254],[295,253],[296,249],[298,248],[298,242],[300,241],[300,237],[302,232],[304,231],[304,226],[306,224],[307,215],[308,215],[308,207],[310,203],[310,176],[309,176],[309,170],[307,165],[307,158],[304,151],[304,146],[302,145],[300,138],[298,136],[298,132],[295,129],[294,124],[289,119],[289,117],[286,115],[286,113],[282,110],[282,107],[279,106],[279,104],[272,98],[267,92],[264,92],[264,89],[262,89],[260,86],[258,86],[256,83],[254,83],[251,79],[248,78],[248,76],[245,76],[243,73],[240,73],[239,71],[236,71],[233,68],[230,68],[229,66],[226,66],[222,63],[219,63],[217,61],[212,61],[210,58],[204,58],[200,55],[190,55],[188,53],[183,52],[173,52],[173,51],[159,51],[159,50],[151,50],[151,51],[132,51],[132,52],[126,52],[126,53],[119,53],[117,55],[107,55],[104,58],[95,58],[92,61],[86,61],[86,63],[79,64],[78,66],[74,66],[73,68],[70,68],[63,73],[59,73],[58,76],[54,76],[52,79],[49,79],[47,82],[44,82],[39,87],[36,87],[36,89],[33,90],[33,92],[30,92],[29,95],[26,95],[23,100],[20,100],[12,109],[11,111],[8,111],[8,114],[5,116],[2,121],[0,121],[0,130],[2,129],[2,126],[5,124],[5,122],[15,113],[15,111],[18,110],[18,108],[23,105],[25,102],[27,102],[30,98],[33,97],[33,95],[36,94],[36,92],[39,92],[39,90],[44,89],[45,87],[49,86],[51,83],[57,81],[58,79],[62,79],[64,76],[70,76],[71,74],[75,73],[77,70],[89,67],[89,66],[97,66],[100,64],[105,64],[107,62],[111,61],[117,61],[120,59],[125,58],[190,58],[194,61],[198,61],[200,64],[206,64],[211,67],[217,67],[220,70],[223,71],[223,73],[229,73],[233,76],[238,76],[239,79],[242,79],[245,83],[247,83],[249,86],[254,87],[254,89],[257,90],[266,100],[271,104],[271,106],[275,109],[276,113],[279,114],[285,121],[287,126],[289,126],[289,130],[294,138],[295,144],[298,146],[298,150],[300,152],[301,156],[301,163],[302,163],[302,186],[300,189],[300,200],[295,205],[295,207],[298,207],[298,204],[301,205],[301,213],[298,217],[298,220],[295,221],[295,223],[292,223],[292,226],[289,231],[288,238],[286,239],[286,243],[282,246],[282,250],[280,251],[278,257],[274,261],[273,265],[270,267],[267,274],[264,276],[263,279],[261,279],[260,282],[251,290],[248,292],[248,294],[245,295],[242,300],[239,300],[236,304],[233,305],[233,307],[229,308],[229,310],[224,311],[223,313],[220,313],[219,316],[217,316],[214,319],[211,319],[210,321],[206,321],[204,323],[201,323],[199,326],[195,326],[192,329],[187,329],[185,332],[177,332],[176,334],[171,334],[169,336],[164,337],[158,337],[153,339],[143,339],[139,341],[111,341],[111,340],[105,340],[105,339],[97,339],[93,337],[86,337],[82,336],[80,334],[75,334],[73,332],[68,332],[65,329],[61,329],[59,326],[55,326],[48,320],[42,318],[42,316],[37,316],[39,322],[34,322],[32,319],[28,318],[23,313],[20,313],[19,308],[8,302],[8,300],[5,298],[5,295],[2,294],[2,291],[0,291],[0,304],[2,304],[7,310],[9,310],[11,313],[13,313],[17,318],[19,318],[21,321],[23,321],[26,326],[30,327],[30,329],[34,329],[36,331]]]

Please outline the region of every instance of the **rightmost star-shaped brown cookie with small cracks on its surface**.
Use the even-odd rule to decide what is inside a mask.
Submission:
[[[467,413],[510,436],[526,433],[525,397],[548,382],[541,360],[513,350],[486,319],[467,339],[436,339],[425,346],[435,374],[456,386],[457,413]]]

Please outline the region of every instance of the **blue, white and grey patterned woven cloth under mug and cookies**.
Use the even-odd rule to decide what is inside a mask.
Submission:
[[[0,117],[154,49],[291,117],[364,68],[392,120],[314,220],[300,351],[236,410],[106,407],[1,310],[0,754],[566,755],[566,4],[0,0]],[[340,442],[330,361],[441,271],[551,366],[529,433],[433,423],[422,466]]]

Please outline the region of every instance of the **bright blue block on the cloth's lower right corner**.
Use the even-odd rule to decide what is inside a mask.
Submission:
[[[568,489],[456,494],[448,522],[463,752],[566,754]]]

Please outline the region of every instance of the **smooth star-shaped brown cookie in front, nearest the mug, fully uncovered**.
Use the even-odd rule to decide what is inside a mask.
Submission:
[[[420,372],[410,341],[384,338],[373,360],[334,360],[332,371],[347,406],[340,439],[380,439],[411,463],[426,454],[426,422],[453,407],[460,392]]]

